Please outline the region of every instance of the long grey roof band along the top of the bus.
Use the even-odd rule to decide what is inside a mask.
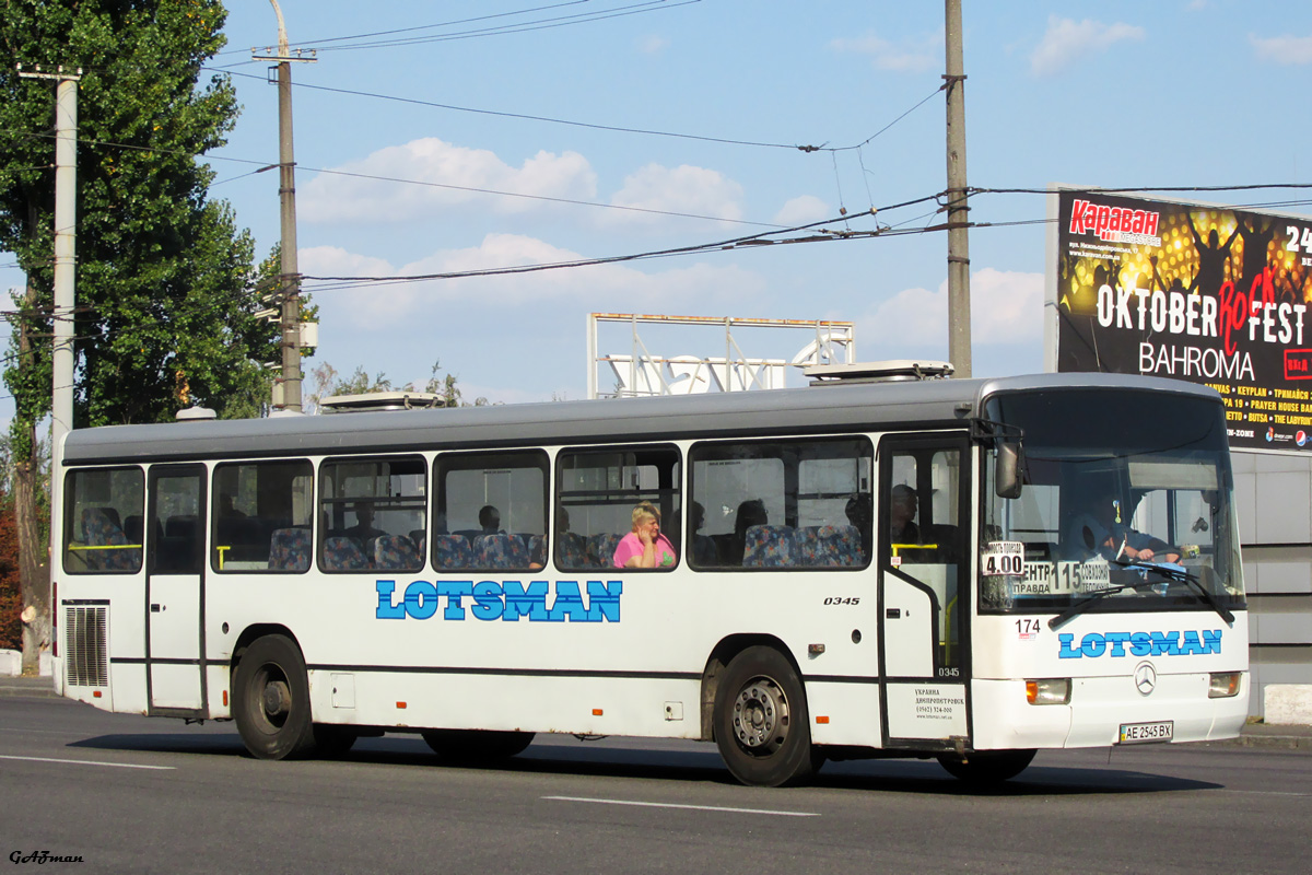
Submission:
[[[425,449],[622,443],[716,436],[963,426],[996,392],[1143,390],[1220,401],[1206,387],[1120,374],[855,383],[598,401],[552,401],[70,432],[64,464],[237,459]]]

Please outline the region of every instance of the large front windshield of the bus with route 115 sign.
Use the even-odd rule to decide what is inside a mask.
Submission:
[[[993,458],[984,466],[981,610],[1244,607],[1219,404],[1063,390],[994,395],[985,415],[1023,433],[1023,462],[1014,499],[997,495]]]

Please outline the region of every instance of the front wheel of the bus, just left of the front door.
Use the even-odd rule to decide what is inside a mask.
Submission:
[[[715,690],[714,723],[724,765],[745,784],[800,783],[824,761],[811,745],[802,681],[771,647],[749,647],[729,661]]]

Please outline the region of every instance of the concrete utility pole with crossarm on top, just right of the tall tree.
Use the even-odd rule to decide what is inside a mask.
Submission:
[[[314,63],[314,51],[287,49],[287,28],[278,0],[278,51],[252,51],[252,60],[278,62],[278,195],[282,219],[282,376],[274,380],[273,407],[300,412],[300,272],[297,268],[297,160],[291,147],[291,62]],[[281,386],[281,397],[279,397]]]

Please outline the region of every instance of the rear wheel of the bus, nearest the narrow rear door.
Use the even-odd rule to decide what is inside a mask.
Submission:
[[[282,635],[257,638],[241,653],[232,678],[232,716],[251,756],[307,756],[315,746],[315,731],[300,648]]]

